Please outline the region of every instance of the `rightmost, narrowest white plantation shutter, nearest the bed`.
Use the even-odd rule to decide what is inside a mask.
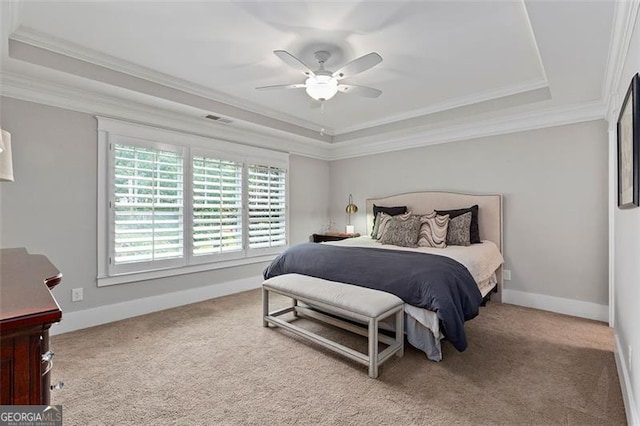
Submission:
[[[250,165],[247,190],[249,249],[286,245],[286,170]]]

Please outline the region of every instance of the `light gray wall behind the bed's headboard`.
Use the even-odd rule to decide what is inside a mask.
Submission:
[[[502,193],[505,288],[608,304],[607,127],[596,121],[334,161],[331,218],[349,193]],[[352,217],[365,232],[365,215]]]

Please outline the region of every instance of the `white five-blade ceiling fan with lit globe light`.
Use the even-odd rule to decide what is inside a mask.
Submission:
[[[315,71],[311,70],[304,62],[285,50],[274,50],[273,53],[287,65],[302,71],[302,73],[307,76],[307,79],[304,83],[262,86],[256,87],[257,90],[304,88],[307,94],[317,101],[329,100],[338,92],[352,93],[367,98],[377,98],[382,93],[382,91],[374,89],[373,87],[356,86],[354,84],[344,84],[341,82],[344,78],[353,77],[382,62],[382,57],[376,52],[371,52],[354,59],[335,72],[324,68],[325,62],[331,57],[331,54],[324,50],[319,50],[314,54],[320,64]]]

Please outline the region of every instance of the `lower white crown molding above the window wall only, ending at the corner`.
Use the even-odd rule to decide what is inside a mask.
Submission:
[[[204,121],[203,118],[169,108],[147,106],[13,73],[0,73],[0,95],[92,115],[150,124],[247,146],[268,148],[321,160],[330,159],[326,142],[238,120],[234,120],[231,124]]]

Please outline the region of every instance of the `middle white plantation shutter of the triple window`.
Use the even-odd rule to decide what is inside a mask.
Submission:
[[[242,251],[242,164],[193,157],[193,255]]]

